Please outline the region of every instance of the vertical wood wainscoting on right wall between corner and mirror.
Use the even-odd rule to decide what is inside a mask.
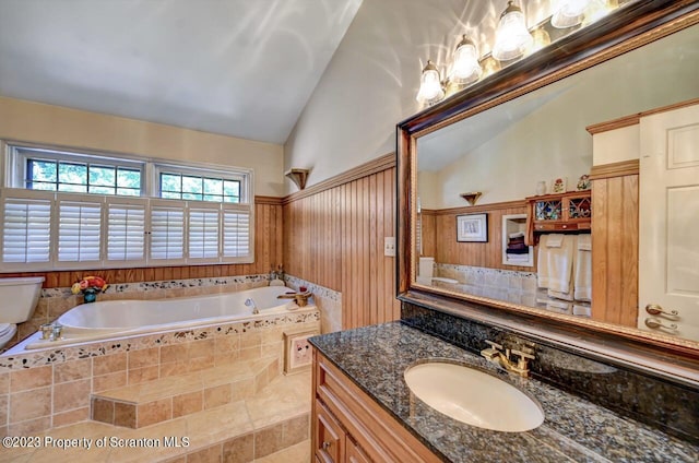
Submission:
[[[284,268],[342,293],[342,328],[400,318],[394,258],[395,155],[389,154],[284,199]]]

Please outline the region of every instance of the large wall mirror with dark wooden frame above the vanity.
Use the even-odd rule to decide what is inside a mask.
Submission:
[[[403,297],[699,355],[699,13],[640,3],[399,124]]]

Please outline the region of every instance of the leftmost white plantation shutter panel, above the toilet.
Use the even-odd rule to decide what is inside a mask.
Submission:
[[[2,212],[2,262],[45,263],[51,259],[51,205],[54,193],[4,190]],[[42,265],[43,268],[46,265]],[[22,265],[21,269],[31,269]]]

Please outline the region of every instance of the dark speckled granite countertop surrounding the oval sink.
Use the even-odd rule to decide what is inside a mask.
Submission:
[[[521,379],[484,358],[400,322],[311,337],[311,344],[359,388],[450,462],[697,462],[699,447],[668,436],[536,379]],[[415,399],[403,372],[426,359],[475,366],[535,397],[542,426],[499,432],[457,422]]]

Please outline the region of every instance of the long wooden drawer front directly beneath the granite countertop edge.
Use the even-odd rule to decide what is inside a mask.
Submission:
[[[322,354],[313,351],[313,359],[316,408],[330,412],[344,428],[346,461],[441,461]],[[318,448],[319,443],[313,446]],[[347,450],[350,447],[357,448]]]

